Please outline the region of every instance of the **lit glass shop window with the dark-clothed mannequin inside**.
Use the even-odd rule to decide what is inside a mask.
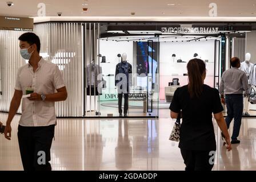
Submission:
[[[101,116],[158,117],[159,38],[128,37],[99,40],[100,65],[106,87],[99,96]],[[126,94],[120,77],[127,67]],[[125,77],[126,78],[126,77]]]

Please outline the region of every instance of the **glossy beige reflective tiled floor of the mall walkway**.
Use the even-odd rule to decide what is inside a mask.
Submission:
[[[0,114],[0,121],[5,123],[6,118]],[[0,170],[23,169],[18,119],[12,123],[11,141],[0,135]],[[183,170],[178,143],[168,139],[173,124],[170,118],[58,120],[51,150],[53,170]],[[243,119],[241,144],[230,152],[222,147],[216,124],[215,134],[214,170],[256,170],[255,119]]]

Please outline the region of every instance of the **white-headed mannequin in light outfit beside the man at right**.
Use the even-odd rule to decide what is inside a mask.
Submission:
[[[245,61],[241,63],[240,69],[246,73],[246,76],[248,78],[248,84],[249,84],[249,89],[247,92],[245,92],[246,97],[243,98],[243,115],[250,115],[248,113],[248,105],[249,105],[249,100],[247,94],[250,93],[251,90],[251,85],[253,85],[253,63],[250,63],[251,60],[251,54],[249,52],[246,53],[245,55]]]

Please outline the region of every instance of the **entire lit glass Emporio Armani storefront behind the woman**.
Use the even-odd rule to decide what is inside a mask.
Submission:
[[[104,26],[103,26],[104,27]],[[108,27],[109,28],[109,27]],[[121,27],[123,28],[123,27]],[[206,63],[205,84],[217,88],[225,37],[221,34],[159,34],[86,28],[86,117],[170,117],[170,102],[188,84],[190,59]]]

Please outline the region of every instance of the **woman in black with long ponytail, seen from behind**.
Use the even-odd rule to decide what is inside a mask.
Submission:
[[[218,90],[204,84],[206,66],[201,59],[190,60],[187,72],[189,84],[175,91],[170,105],[171,118],[177,118],[181,113],[179,148],[185,170],[211,171],[214,166],[211,159],[216,151],[212,114],[225,135],[227,150],[231,150],[223,107]]]

